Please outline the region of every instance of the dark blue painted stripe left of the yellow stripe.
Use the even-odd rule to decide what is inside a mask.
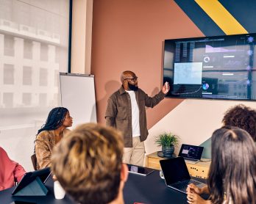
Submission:
[[[191,21],[202,31],[205,36],[225,35],[225,33],[217,26],[217,24],[196,4],[191,0],[174,0],[178,6],[191,18]],[[182,25],[181,25],[182,26]]]

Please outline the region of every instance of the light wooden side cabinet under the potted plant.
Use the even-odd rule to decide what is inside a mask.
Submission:
[[[159,161],[162,159],[164,158],[157,156],[157,152],[149,154],[146,156],[146,167],[161,170]],[[196,164],[186,162],[186,165],[191,176],[205,179],[208,178],[210,161],[204,161],[204,159],[202,159],[202,161],[199,161]]]

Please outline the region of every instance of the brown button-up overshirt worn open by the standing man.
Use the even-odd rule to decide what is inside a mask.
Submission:
[[[149,97],[143,90],[135,91],[136,101],[140,111],[140,129],[141,142],[146,140],[149,132],[146,128],[146,109],[147,107],[154,107],[163,100],[164,94],[160,91],[154,97]],[[124,88],[114,92],[107,101],[107,110],[105,114],[106,125],[117,128],[124,135],[124,147],[132,147],[132,104],[129,93]]]

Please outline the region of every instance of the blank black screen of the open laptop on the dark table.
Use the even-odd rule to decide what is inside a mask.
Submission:
[[[163,159],[160,160],[160,164],[168,186],[172,183],[191,179],[188,168],[182,157]]]

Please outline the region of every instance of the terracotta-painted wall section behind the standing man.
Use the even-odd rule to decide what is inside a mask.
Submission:
[[[199,36],[202,32],[174,1],[94,0],[91,73],[99,123],[105,123],[107,98],[120,87],[122,71],[134,71],[139,86],[154,95],[163,83],[163,40]],[[166,98],[147,109],[148,128],[181,102]]]

